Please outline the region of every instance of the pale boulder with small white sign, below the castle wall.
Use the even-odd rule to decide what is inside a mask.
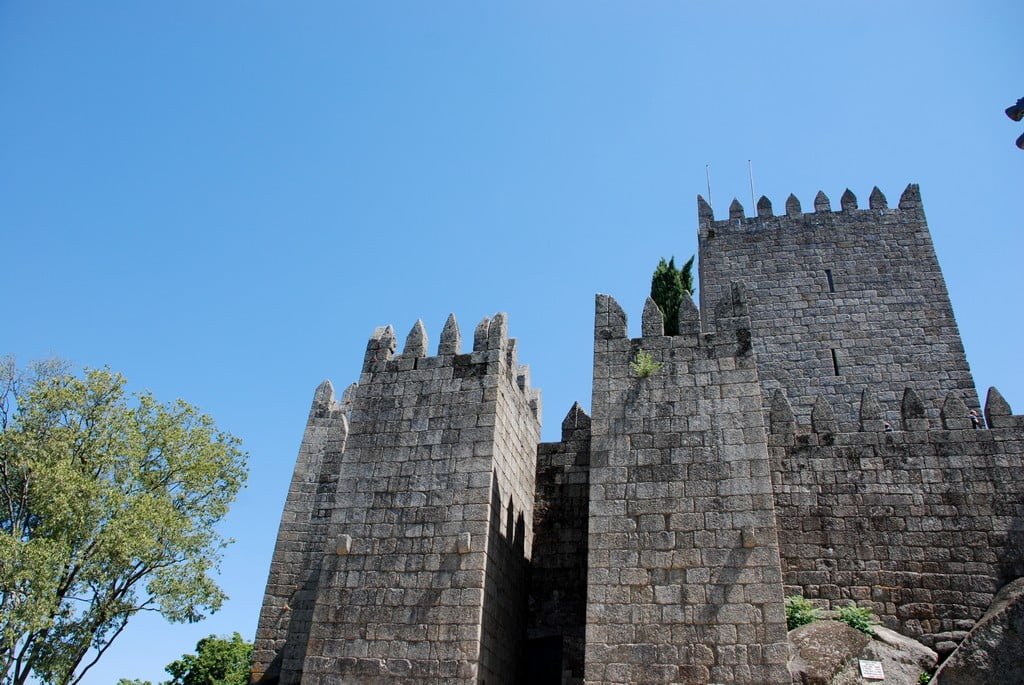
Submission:
[[[790,675],[800,685],[862,685],[860,659],[881,661],[887,685],[918,685],[938,655],[916,640],[877,626],[876,637],[838,620],[790,631]]]

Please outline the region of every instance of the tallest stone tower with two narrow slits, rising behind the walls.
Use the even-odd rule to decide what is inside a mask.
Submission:
[[[716,221],[698,198],[701,304],[745,284],[766,400],[782,389],[808,415],[819,395],[840,411],[870,388],[895,414],[913,386],[933,418],[951,390],[978,406],[916,185],[894,209],[876,188],[867,209],[847,190],[840,211],[819,192],[813,213],[791,196],[783,215],[765,198],[757,214],[733,201]]]

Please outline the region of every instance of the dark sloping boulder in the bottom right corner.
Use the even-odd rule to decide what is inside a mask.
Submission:
[[[1024,683],[1024,579],[996,593],[985,615],[932,679],[935,685]]]

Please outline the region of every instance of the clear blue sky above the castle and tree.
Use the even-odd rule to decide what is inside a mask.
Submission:
[[[309,401],[367,338],[507,311],[544,434],[593,297],[638,318],[694,198],[921,184],[982,393],[1024,411],[1024,4],[0,2],[0,352],[109,365],[239,435],[231,600],[86,679],[251,638]]]

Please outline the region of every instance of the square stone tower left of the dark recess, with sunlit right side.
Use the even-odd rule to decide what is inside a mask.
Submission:
[[[514,682],[528,548],[494,521],[511,505],[523,530],[532,522],[521,445],[537,443],[537,393],[504,315],[470,354],[458,353],[454,317],[438,355],[426,346],[420,324],[398,356],[390,328],[368,345],[303,683]]]

